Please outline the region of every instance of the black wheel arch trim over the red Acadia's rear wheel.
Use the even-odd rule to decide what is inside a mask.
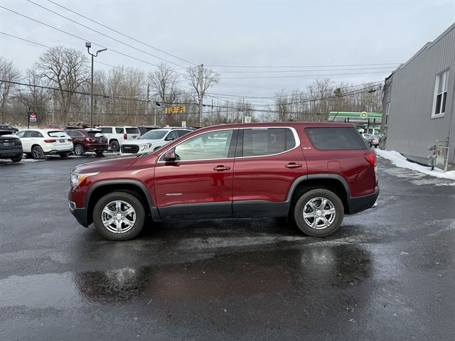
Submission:
[[[333,193],[338,195],[343,202],[343,208],[345,214],[349,212],[349,197],[350,190],[346,180],[337,174],[315,174],[315,175],[305,175],[301,178],[298,178],[291,185],[289,194],[287,197],[287,202],[289,202],[289,210],[292,210],[293,204],[298,199],[299,193],[304,193],[315,188],[324,188],[326,190],[331,190]]]

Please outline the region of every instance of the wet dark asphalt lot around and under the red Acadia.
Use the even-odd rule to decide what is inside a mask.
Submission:
[[[68,211],[95,156],[0,161],[0,340],[454,340],[455,183],[380,158],[378,207],[161,222],[109,242]]]

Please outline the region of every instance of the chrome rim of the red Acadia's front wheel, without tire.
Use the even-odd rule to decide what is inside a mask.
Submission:
[[[134,226],[136,211],[128,202],[116,200],[103,208],[101,219],[109,232],[122,234]]]

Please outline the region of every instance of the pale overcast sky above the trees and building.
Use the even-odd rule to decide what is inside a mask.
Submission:
[[[108,48],[95,61],[141,70],[154,69],[153,65],[167,61],[184,73],[184,67],[203,63],[220,74],[220,84],[210,90],[219,98],[228,98],[228,94],[270,97],[279,90],[304,90],[316,75],[348,85],[384,80],[397,65],[455,21],[455,0],[33,1],[88,28],[30,1],[0,0],[0,6],[6,9],[74,36],[4,8],[0,8],[1,33],[47,46],[65,45],[84,53],[85,41],[92,41],[94,51]],[[45,47],[18,38],[0,34],[0,52],[25,71]],[[95,63],[95,68],[109,67]],[[182,86],[187,86],[186,82]]]

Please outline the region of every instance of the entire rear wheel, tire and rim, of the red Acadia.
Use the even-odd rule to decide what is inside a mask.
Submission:
[[[326,200],[326,205],[322,207],[323,200]],[[343,222],[343,202],[331,190],[323,188],[309,190],[301,193],[296,200],[293,217],[297,227],[304,234],[311,237],[326,237],[336,232]]]

